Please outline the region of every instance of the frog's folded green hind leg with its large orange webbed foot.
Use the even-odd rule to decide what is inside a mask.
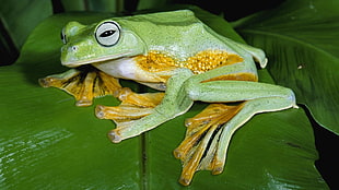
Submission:
[[[197,170],[211,170],[213,175],[223,171],[231,138],[255,114],[296,107],[291,90],[266,83],[209,81],[187,87],[195,100],[232,105],[212,105],[188,120],[186,138],[174,151],[183,162],[179,181],[184,186]]]

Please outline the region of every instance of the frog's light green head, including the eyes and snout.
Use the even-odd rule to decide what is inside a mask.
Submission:
[[[98,24],[68,23],[61,33],[61,63],[74,68],[143,54],[143,41],[118,22],[105,20]]]

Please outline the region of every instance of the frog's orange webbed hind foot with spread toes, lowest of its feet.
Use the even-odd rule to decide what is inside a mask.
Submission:
[[[227,106],[211,104],[194,118],[186,120],[186,136],[174,151],[174,156],[182,161],[183,171],[179,182],[188,186],[198,170],[212,170],[221,174],[223,163],[218,159],[217,150],[224,123],[230,121],[243,104]]]

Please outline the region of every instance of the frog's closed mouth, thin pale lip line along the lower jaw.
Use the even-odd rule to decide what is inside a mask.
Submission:
[[[107,61],[113,61],[113,60],[118,60],[118,59],[122,59],[126,57],[129,57],[132,52],[125,52],[125,54],[119,54],[119,55],[110,55],[110,56],[104,56],[104,57],[100,57],[100,58],[95,58],[95,59],[83,59],[83,60],[71,60],[71,61],[65,61],[61,59],[61,64],[66,66],[68,68],[78,68],[80,66],[84,66],[84,64],[93,64],[93,63],[100,63],[100,62],[107,62]]]

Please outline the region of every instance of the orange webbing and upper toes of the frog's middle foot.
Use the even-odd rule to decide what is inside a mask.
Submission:
[[[100,119],[110,119],[117,124],[117,130],[151,115],[164,97],[164,93],[137,94],[124,87],[118,98],[119,106],[96,106],[95,115]]]

